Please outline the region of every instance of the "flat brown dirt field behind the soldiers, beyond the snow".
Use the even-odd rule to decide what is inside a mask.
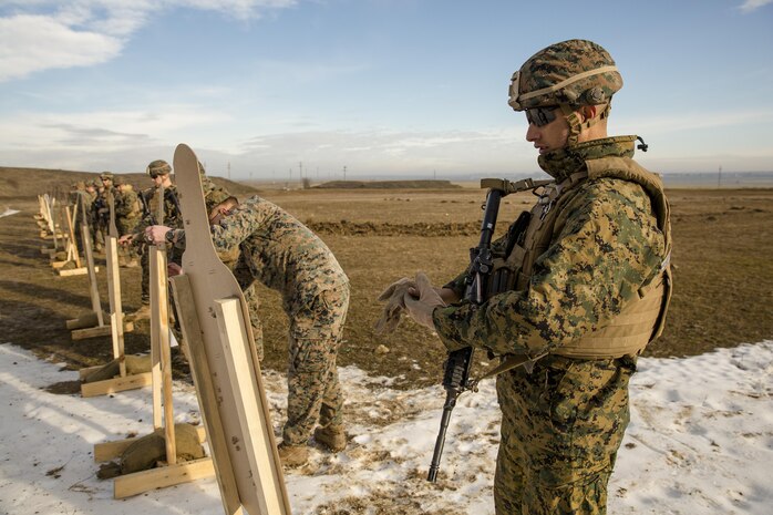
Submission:
[[[47,186],[41,186],[41,188]],[[44,193],[41,190],[40,193]],[[340,365],[398,378],[395,387],[440,381],[445,352],[436,337],[408,320],[396,332],[372,327],[379,292],[393,280],[425,271],[436,284],[460,272],[477,243],[484,192],[457,189],[265,189],[261,194],[316,230],[333,250],[352,285]],[[671,189],[674,293],[663,337],[647,356],[683,357],[718,347],[773,338],[773,189]],[[499,228],[533,202],[505,198]],[[21,213],[0,218],[0,342],[34,350],[79,369],[107,362],[110,337],[72,341],[65,320],[91,310],[86,276],[54,275],[33,219],[33,197],[0,197]],[[104,256],[97,256],[107,309]],[[140,306],[140,269],[122,268],[126,312]],[[287,367],[287,320],[278,296],[261,289],[264,367]],[[125,334],[126,352],[150,348],[148,322]],[[388,349],[377,353],[377,348]],[[383,349],[382,348],[382,349]],[[480,356],[481,361],[484,357]],[[184,373],[184,371],[183,371]]]

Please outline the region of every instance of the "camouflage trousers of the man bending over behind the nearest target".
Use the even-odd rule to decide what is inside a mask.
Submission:
[[[308,442],[317,423],[343,421],[343,393],[336,357],[349,309],[349,285],[320,292],[290,317],[287,423],[282,441]]]

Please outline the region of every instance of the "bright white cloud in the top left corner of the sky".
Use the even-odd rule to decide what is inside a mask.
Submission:
[[[238,20],[260,18],[266,10],[297,0],[76,0],[4,2],[13,14],[0,18],[0,82],[31,73],[89,66],[121,53],[131,35],[152,14],[171,9],[220,12]]]

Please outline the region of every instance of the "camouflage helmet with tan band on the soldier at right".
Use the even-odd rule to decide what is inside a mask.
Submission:
[[[552,44],[513,74],[509,101],[515,111],[598,105],[622,87],[622,75],[602,47],[587,40]]]

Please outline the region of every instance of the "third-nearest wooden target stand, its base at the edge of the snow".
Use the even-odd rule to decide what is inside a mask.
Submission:
[[[123,307],[121,303],[121,274],[118,271],[118,230],[115,227],[115,208],[113,195],[107,196],[110,205],[110,230],[105,238],[107,260],[107,295],[110,297],[110,333],[113,341],[113,359],[118,360],[118,375],[104,381],[94,381],[81,384],[81,395],[96,396],[109,393],[122,392],[147,387],[152,383],[152,372],[127,374],[124,354]],[[133,328],[134,326],[132,326]],[[92,371],[101,367],[89,367],[79,371],[84,379]]]

